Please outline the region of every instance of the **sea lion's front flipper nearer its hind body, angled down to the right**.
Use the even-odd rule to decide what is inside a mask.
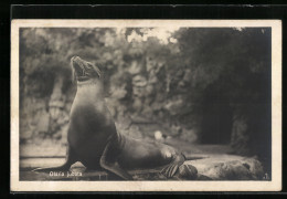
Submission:
[[[132,177],[126,170],[124,170],[115,159],[117,157],[115,153],[116,153],[115,148],[109,143],[106,146],[103,156],[100,157],[99,160],[100,167],[109,170],[110,172],[118,175],[125,180],[132,180]]]

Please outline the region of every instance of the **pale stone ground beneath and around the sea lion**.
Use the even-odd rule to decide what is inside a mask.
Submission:
[[[191,145],[176,139],[166,143],[180,148],[190,160],[171,179],[160,174],[162,168],[129,170],[135,180],[270,180],[270,174],[265,172],[256,157],[231,155],[226,145]],[[64,163],[65,147],[55,147],[49,140],[21,145],[20,151],[20,180],[120,180],[104,170],[86,170],[81,163],[74,164],[70,171],[31,171]]]

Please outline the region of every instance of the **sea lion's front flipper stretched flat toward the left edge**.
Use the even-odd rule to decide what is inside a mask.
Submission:
[[[66,154],[66,161],[59,167],[49,167],[49,168],[36,168],[33,169],[32,171],[36,171],[36,172],[45,172],[45,171],[60,171],[60,170],[68,170],[71,165],[73,165],[74,163],[76,163],[76,155],[75,153],[73,153],[71,147],[67,147],[67,154]]]

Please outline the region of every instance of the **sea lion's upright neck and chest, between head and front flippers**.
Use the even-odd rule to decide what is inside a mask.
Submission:
[[[82,85],[84,84],[84,85]],[[104,103],[102,83],[78,83],[67,133],[68,146],[89,168],[96,168],[116,126]]]

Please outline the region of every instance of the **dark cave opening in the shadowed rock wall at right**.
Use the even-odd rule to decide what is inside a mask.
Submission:
[[[233,108],[225,78],[206,87],[201,101],[201,144],[228,145],[233,128]]]

